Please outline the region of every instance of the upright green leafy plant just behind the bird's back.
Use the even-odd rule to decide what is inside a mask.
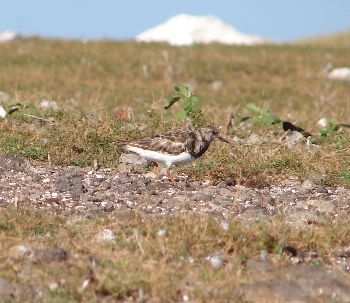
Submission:
[[[179,120],[183,120],[186,117],[194,118],[201,113],[202,103],[200,98],[194,96],[187,86],[178,84],[175,86],[174,90],[178,96],[170,99],[169,104],[165,106],[164,109],[168,109],[174,103],[181,100],[183,111],[177,115]]]

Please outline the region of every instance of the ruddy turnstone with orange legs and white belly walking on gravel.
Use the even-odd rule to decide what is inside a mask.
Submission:
[[[170,167],[173,164],[186,164],[196,160],[208,149],[211,142],[217,140],[230,143],[219,135],[215,126],[206,125],[196,131],[174,130],[147,138],[117,140],[120,143],[117,146],[152,161],[158,176],[160,174],[158,162],[165,163],[166,175],[170,181],[175,182],[170,175]]]

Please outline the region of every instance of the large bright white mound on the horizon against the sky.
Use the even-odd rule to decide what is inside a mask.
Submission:
[[[219,42],[255,45],[272,43],[254,35],[245,35],[214,16],[180,14],[136,37],[139,42],[168,42],[171,45],[193,45]]]

